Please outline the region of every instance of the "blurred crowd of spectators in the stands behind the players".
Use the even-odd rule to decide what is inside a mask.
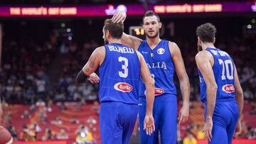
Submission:
[[[169,40],[169,38],[166,38]],[[186,71],[191,82],[191,101],[200,101],[199,80],[194,57],[197,52],[196,39],[172,38],[181,49]],[[50,35],[44,43],[20,43],[16,40],[4,41],[2,52],[2,67],[0,69],[0,96],[3,106],[9,104],[26,104],[30,109],[23,111],[22,119],[31,119],[38,113],[38,123],[25,123],[22,131],[16,131],[11,123],[12,113],[5,113],[4,121],[15,140],[38,140],[38,133],[43,133],[41,140],[68,139],[65,128],[53,131],[51,128],[41,128],[46,124],[60,125],[60,118],[48,118],[53,111],[52,105],[58,101],[76,101],[81,105],[87,101],[95,101],[95,111],[98,113],[97,92],[98,84],[75,84],[75,76],[87,62],[92,51],[100,45],[99,40],[85,40],[78,44],[75,41],[59,39],[57,35]],[[256,41],[255,38],[243,36],[218,37],[216,47],[228,52],[235,62],[244,91],[245,102],[252,102],[249,115],[256,115]],[[181,92],[178,79],[175,79],[178,99]],[[59,110],[65,111],[65,104],[59,103]],[[43,107],[43,109],[38,109]],[[79,110],[79,109],[78,109]],[[81,110],[80,110],[81,111]],[[97,121],[90,117],[81,122],[75,116],[70,123],[78,125],[75,132],[76,141],[92,140]],[[86,125],[84,123],[87,123]],[[89,123],[89,124],[88,124]],[[204,138],[202,126],[190,125],[186,128],[186,137],[178,138],[181,143]],[[255,126],[242,123],[242,133],[239,138],[256,138]]]

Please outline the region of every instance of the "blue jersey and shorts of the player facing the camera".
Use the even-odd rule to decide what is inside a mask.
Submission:
[[[149,136],[141,131],[142,144],[157,144],[158,135],[161,133],[161,143],[176,143],[177,125],[177,100],[176,87],[174,85],[174,62],[169,50],[169,41],[161,40],[153,50],[149,48],[146,40],[139,45],[151,76],[155,82],[155,100],[153,108],[156,131]],[[139,83],[139,123],[143,130],[143,121],[146,113],[145,85]]]

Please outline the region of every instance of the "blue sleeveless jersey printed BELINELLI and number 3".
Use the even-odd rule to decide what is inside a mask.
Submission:
[[[105,45],[105,60],[100,66],[100,102],[119,101],[138,104],[140,63],[137,53],[126,45]]]

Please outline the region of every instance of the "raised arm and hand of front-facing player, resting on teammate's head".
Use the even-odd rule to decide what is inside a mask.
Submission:
[[[118,11],[111,18],[114,23],[123,23],[126,18],[126,13]],[[134,48],[135,50],[139,49],[139,45],[142,43],[142,39],[137,38],[132,35],[127,35],[126,33],[122,34],[122,44],[129,46],[130,48]]]

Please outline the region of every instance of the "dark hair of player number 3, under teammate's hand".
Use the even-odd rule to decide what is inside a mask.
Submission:
[[[121,38],[124,32],[123,23],[113,23],[111,19],[106,19],[104,22],[104,31],[110,31],[112,38]]]

